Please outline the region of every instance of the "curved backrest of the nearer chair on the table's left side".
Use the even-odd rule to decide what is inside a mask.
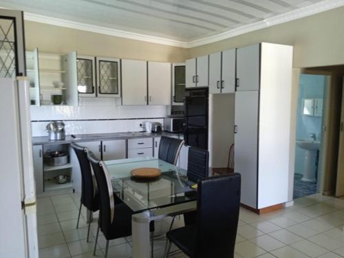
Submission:
[[[105,237],[110,233],[110,226],[114,222],[115,204],[114,191],[111,185],[111,178],[107,167],[102,160],[98,160],[92,151],[89,151],[87,158],[91,162],[94,175],[98,184],[99,194],[99,226]]]

